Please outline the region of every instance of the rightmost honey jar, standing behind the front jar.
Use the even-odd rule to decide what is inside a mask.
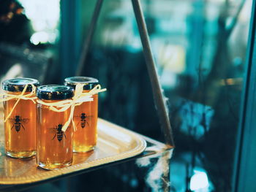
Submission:
[[[75,88],[78,83],[83,84],[83,92],[89,92],[99,84],[92,77],[68,77],[65,85]],[[87,152],[93,150],[97,144],[98,94],[94,94],[93,101],[86,101],[75,107],[74,122],[77,130],[74,133],[73,151]]]

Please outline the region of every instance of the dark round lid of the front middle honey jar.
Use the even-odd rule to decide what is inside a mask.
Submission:
[[[74,88],[65,85],[42,85],[37,88],[38,99],[62,100],[71,99]]]

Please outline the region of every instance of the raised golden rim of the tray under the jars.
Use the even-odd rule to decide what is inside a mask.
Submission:
[[[44,180],[50,180],[54,179],[56,177],[64,176],[64,174],[71,174],[76,173],[80,171],[86,171],[86,169],[110,164],[116,161],[121,161],[127,158],[132,158],[135,155],[139,155],[140,153],[143,153],[143,151],[146,149],[146,140],[143,139],[143,137],[140,136],[140,134],[136,134],[134,131],[130,131],[127,128],[123,128],[121,126],[118,126],[114,123],[110,123],[108,120],[103,120],[101,118],[98,118],[98,122],[108,124],[111,127],[114,127],[115,129],[118,129],[118,131],[121,131],[123,134],[128,134],[132,138],[135,138],[135,140],[138,142],[138,145],[134,147],[132,150],[127,150],[122,153],[111,155],[109,157],[105,158],[99,158],[95,161],[89,161],[82,164],[75,164],[72,166],[67,166],[61,169],[54,169],[54,170],[45,170],[45,172],[31,175],[31,176],[14,176],[14,177],[0,177],[0,185],[20,185],[20,184],[30,184],[30,183],[37,183]],[[38,169],[38,168],[37,168]]]

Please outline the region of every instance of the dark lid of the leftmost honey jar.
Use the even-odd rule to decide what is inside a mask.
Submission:
[[[37,87],[39,86],[39,81],[31,78],[15,78],[10,80],[4,80],[2,82],[2,87],[4,91],[21,92],[28,84],[32,84]],[[26,91],[31,92],[32,86],[28,85]]]

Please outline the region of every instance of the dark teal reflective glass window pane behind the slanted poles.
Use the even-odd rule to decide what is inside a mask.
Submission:
[[[230,191],[252,1],[142,4],[176,142],[173,191]],[[105,1],[84,74],[108,88],[102,118],[164,141],[130,1]]]

